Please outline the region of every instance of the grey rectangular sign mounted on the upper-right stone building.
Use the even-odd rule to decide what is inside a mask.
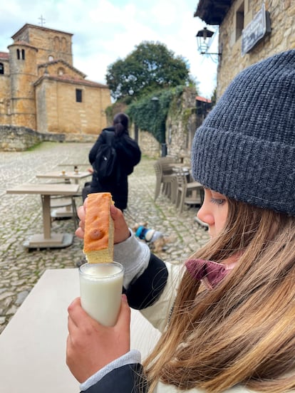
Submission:
[[[265,11],[264,4],[262,4],[262,9],[257,12],[254,19],[242,31],[242,56],[251,51],[269,31],[269,15]]]

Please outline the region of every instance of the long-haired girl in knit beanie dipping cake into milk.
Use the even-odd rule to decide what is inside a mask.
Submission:
[[[192,173],[211,240],[180,268],[114,206],[118,323],[68,308],[67,364],[86,392],[295,392],[295,51],[242,71],[197,130]],[[79,209],[83,237],[85,209]],[[126,300],[128,298],[128,303]],[[162,336],[143,366],[130,309]]]

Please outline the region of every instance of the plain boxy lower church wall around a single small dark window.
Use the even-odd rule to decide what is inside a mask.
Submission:
[[[76,102],[76,90],[82,102]],[[37,130],[65,134],[98,135],[107,127],[105,108],[110,90],[86,80],[60,80],[44,76],[36,85]]]

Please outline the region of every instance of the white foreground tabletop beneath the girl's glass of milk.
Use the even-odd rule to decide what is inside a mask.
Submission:
[[[0,335],[0,391],[78,393],[66,366],[68,305],[79,295],[78,269],[47,270]],[[131,347],[143,357],[159,332],[135,310]]]

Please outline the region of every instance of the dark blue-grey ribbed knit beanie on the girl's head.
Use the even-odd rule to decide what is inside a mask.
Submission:
[[[192,175],[238,201],[295,216],[295,51],[243,70],[195,133]]]

